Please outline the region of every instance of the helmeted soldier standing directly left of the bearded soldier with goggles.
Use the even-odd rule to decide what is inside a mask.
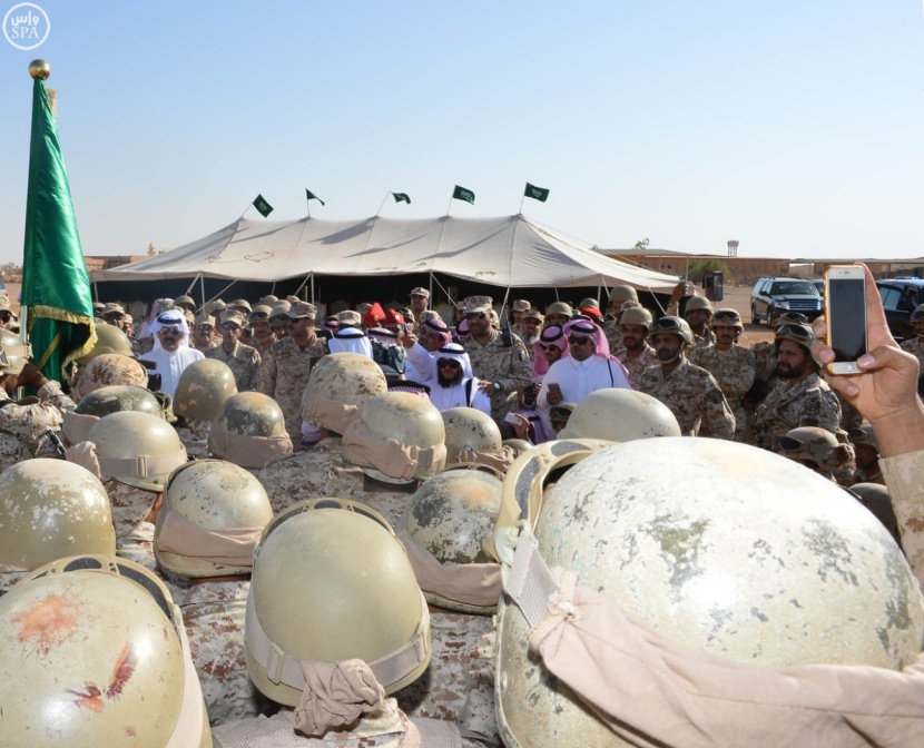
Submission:
[[[757,364],[754,354],[738,345],[738,336],[745,331],[741,317],[735,309],[718,309],[710,324],[715,342],[696,347],[690,363],[709,372],[718,382],[728,407],[735,414],[735,441],[744,442],[747,429],[741,397],[754,384]]]

